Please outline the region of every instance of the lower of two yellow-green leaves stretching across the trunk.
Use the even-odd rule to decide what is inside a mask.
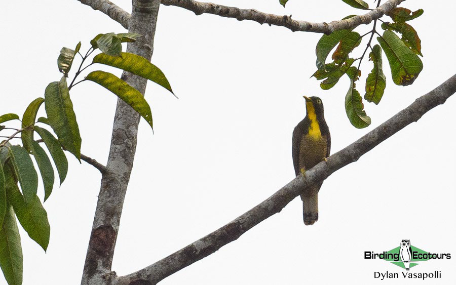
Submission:
[[[124,80],[112,73],[100,70],[90,72],[86,79],[98,83],[110,92],[116,94],[120,99],[124,100],[125,103],[138,112],[147,121],[150,127],[153,128],[152,113],[150,112],[149,104],[147,104],[139,91],[128,85]]]

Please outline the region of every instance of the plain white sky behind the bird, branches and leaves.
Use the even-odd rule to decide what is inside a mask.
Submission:
[[[131,11],[129,1],[114,2]],[[314,22],[365,13],[338,0],[319,4],[290,0],[285,9],[278,0],[218,3]],[[78,1],[24,4],[4,1],[0,9],[4,31],[0,113],[22,114],[30,101],[44,96],[47,84],[61,76],[56,59],[63,46],[74,48],[81,40],[86,51],[90,39],[100,32],[125,32]],[[397,87],[384,57],[387,89],[378,106],[365,103],[372,125],[363,130],[352,127],[345,114],[346,76],[329,91],[309,78],[316,69],[320,34],[195,16],[161,6],[152,62],[165,72],[179,100],[148,84],[146,100],[153,110],[155,135],[141,119],[112,269],[125,275],[154,263],[292,180],[291,134],[305,116],[303,95],[323,99],[334,153],[450,77],[456,63],[452,30],[456,4],[407,1],[401,6],[425,10],[410,22],[422,40],[424,69],[412,86]],[[363,34],[369,29],[363,25],[356,31]],[[79,63],[74,65],[73,72]],[[358,83],[362,95],[371,69],[365,59]],[[401,239],[410,239],[412,246],[423,250],[451,253],[450,260],[428,261],[411,271],[441,270],[441,279],[421,283],[454,283],[453,97],[331,175],[319,194],[320,219],[315,225],[303,225],[302,204],[296,198],[280,214],[160,284],[374,283],[379,282],[374,271],[401,270],[382,260],[364,260],[363,252],[391,250]],[[84,83],[71,90],[71,98],[83,138],[82,153],[105,164],[115,96]],[[66,181],[60,189],[57,182],[44,203],[51,224],[47,254],[21,230],[27,285],[81,280],[101,176],[85,162],[79,165],[72,155],[67,157]],[[42,187],[39,195],[44,196]]]

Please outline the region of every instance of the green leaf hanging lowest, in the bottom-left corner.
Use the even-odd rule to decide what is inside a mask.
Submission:
[[[22,284],[21,236],[11,206],[0,228],[0,267],[9,285]]]

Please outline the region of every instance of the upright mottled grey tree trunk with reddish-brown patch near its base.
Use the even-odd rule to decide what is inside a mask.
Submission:
[[[133,0],[129,32],[142,36],[129,43],[127,52],[150,60],[160,0]],[[144,95],[147,80],[129,72],[122,74],[129,85]],[[118,100],[106,173],[101,178],[92,233],[81,284],[108,283],[120,218],[136,151],[139,114]]]

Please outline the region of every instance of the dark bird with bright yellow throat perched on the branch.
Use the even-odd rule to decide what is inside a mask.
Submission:
[[[331,149],[331,136],[326,124],[323,102],[319,97],[306,97],[306,117],[293,130],[292,156],[295,175],[305,175],[306,170],[326,160]],[[318,220],[318,191],[323,181],[308,187],[301,194],[302,215],[305,225]]]

